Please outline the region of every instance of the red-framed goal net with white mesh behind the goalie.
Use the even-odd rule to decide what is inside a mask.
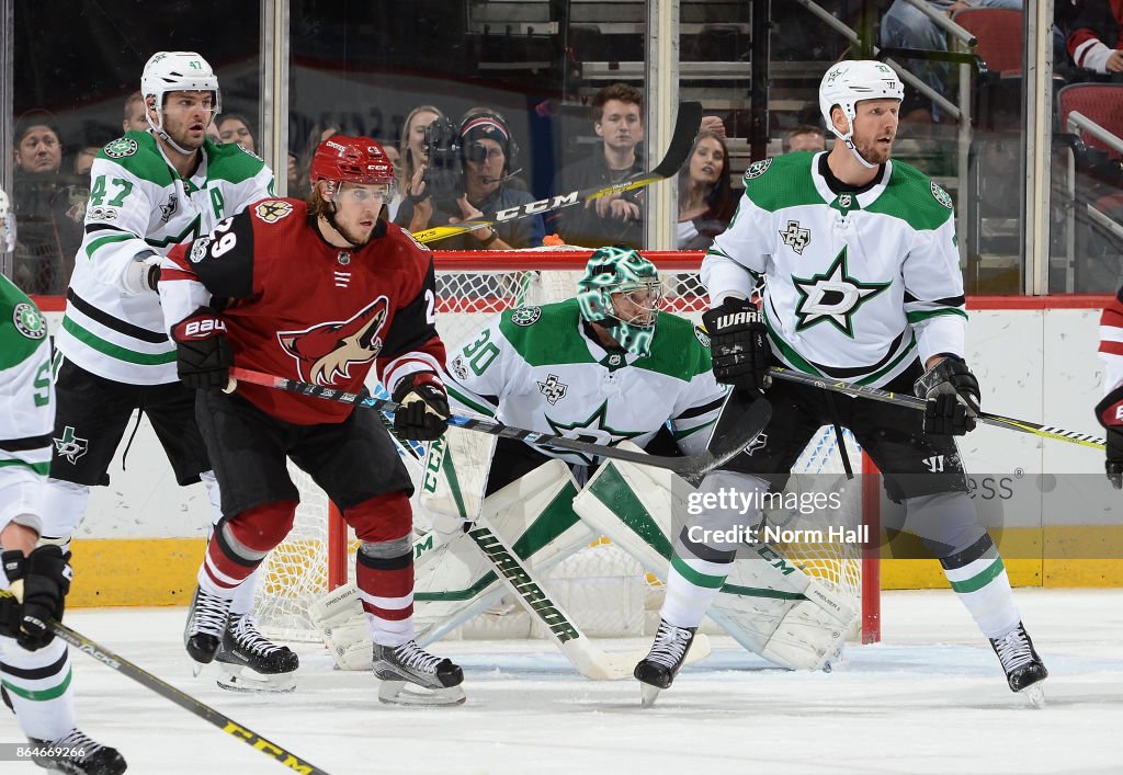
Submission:
[[[591,252],[549,249],[437,254],[437,329],[451,353],[474,337],[494,316],[519,306],[541,304],[572,298]],[[699,280],[701,256],[687,253],[645,254],[659,267],[665,283],[663,309],[695,322],[706,308],[706,294]],[[377,385],[369,385],[373,392]],[[843,435],[849,457],[857,468],[862,456],[853,437]],[[327,496],[310,477],[290,464],[301,493],[301,503],[289,537],[266,560],[255,611],[263,629],[286,640],[319,640],[307,610],[311,600],[354,578],[357,548]],[[809,444],[794,469],[789,491],[801,487],[825,491],[842,482],[838,443],[823,428]],[[866,477],[868,478],[868,477]],[[841,485],[840,485],[841,486]],[[868,501],[856,489],[847,505],[868,523]],[[768,523],[797,530],[810,526],[798,510],[773,510]],[[417,508],[414,522],[427,523]],[[855,520],[858,521],[858,520]],[[862,611],[862,640],[877,639],[877,562],[862,557],[855,544],[786,544],[785,556],[827,586],[855,601]],[[542,573],[554,598],[590,636],[624,637],[651,635],[658,626],[663,583],[646,573],[638,562],[606,538]],[[457,630],[465,638],[535,637],[536,622],[515,603],[504,598],[487,612]],[[454,636],[455,637],[455,636]]]

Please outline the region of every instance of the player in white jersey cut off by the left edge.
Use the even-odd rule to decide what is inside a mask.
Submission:
[[[0,191],[0,253],[15,233]],[[125,758],[77,728],[66,644],[46,620],[60,620],[70,590],[70,554],[36,541],[51,462],[55,401],[51,343],[43,314],[0,275],[0,678],[28,750],[40,767],[116,775]],[[7,737],[7,736],[4,736]]]

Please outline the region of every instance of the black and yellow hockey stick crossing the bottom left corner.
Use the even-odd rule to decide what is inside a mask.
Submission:
[[[0,595],[6,598],[12,596],[11,592],[7,590],[0,590]],[[298,773],[304,773],[305,775],[327,775],[326,771],[298,758],[295,755],[285,750],[272,740],[266,740],[257,732],[243,727],[237,721],[219,713],[210,705],[195,700],[190,694],[184,694],[171,684],[164,683],[152,673],[134,665],[128,659],[113,654],[103,646],[90,640],[84,635],[75,632],[71,628],[57,621],[49,621],[48,624],[51,626],[52,632],[65,640],[79,651],[89,654],[102,665],[127,675],[145,689],[149,689],[156,694],[171,700],[180,708],[194,713],[203,721],[207,721],[208,723],[218,727],[223,732],[232,736],[236,740],[240,740],[248,746],[253,746],[255,749],[262,751],[270,758],[276,759],[277,764]]]

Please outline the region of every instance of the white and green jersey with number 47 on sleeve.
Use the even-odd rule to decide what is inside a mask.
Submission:
[[[241,146],[207,140],[199,168],[184,180],[153,135],[130,131],[101,149],[90,180],[85,238],[74,259],[56,346],[80,367],[109,380],[175,382],[175,345],[165,334],[159,297],[129,292],[125,272],[137,254],[166,255],[273,195],[273,172]]]

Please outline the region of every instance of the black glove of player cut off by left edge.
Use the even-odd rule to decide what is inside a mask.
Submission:
[[[61,621],[66,593],[74,572],[70,553],[55,545],[37,547],[31,554],[4,551],[3,572],[10,590],[20,602],[19,629],[13,635],[24,648],[34,651],[49,644],[55,633],[47,623]],[[7,622],[6,622],[7,624]]]

